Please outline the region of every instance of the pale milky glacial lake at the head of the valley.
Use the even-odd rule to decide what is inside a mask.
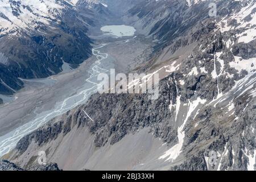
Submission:
[[[126,25],[110,25],[101,27],[101,31],[104,35],[113,35],[121,38],[122,36],[134,36],[136,29]]]

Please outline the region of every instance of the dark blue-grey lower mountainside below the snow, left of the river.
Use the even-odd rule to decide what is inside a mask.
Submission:
[[[94,12],[82,3],[77,8],[65,3],[61,6],[61,15],[49,24],[35,20],[36,27],[31,30],[21,27],[1,35],[0,53],[7,61],[0,60],[0,94],[23,88],[19,78],[56,75],[62,71],[63,61],[76,68],[92,55],[92,40],[86,33],[94,26],[93,19],[88,18]]]

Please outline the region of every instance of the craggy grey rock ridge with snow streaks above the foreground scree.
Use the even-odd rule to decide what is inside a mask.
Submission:
[[[233,3],[228,5],[233,7]],[[102,147],[150,127],[150,132],[170,148],[182,144],[182,152],[170,161],[170,169],[209,170],[209,151],[218,154],[214,169],[254,168],[250,160],[256,155],[255,67],[252,64],[240,71],[230,63],[243,65],[255,57],[256,42],[238,43],[236,35],[245,29],[222,32],[211,18],[191,29],[162,50],[172,55],[194,45],[189,56],[177,63],[179,68],[160,81],[157,100],[148,100],[147,94],[94,94],[87,104],[23,137],[13,151],[14,158],[27,155],[31,143],[40,148],[77,129],[89,128],[94,145]],[[236,56],[241,58],[235,62]],[[172,63],[170,59],[168,64]],[[193,108],[198,100],[205,103]],[[178,128],[183,124],[184,138],[180,140]]]

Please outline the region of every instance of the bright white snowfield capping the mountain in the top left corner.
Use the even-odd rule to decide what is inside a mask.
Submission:
[[[63,14],[64,9],[75,6],[76,1],[63,0],[24,0],[24,1],[0,1],[0,29],[1,35],[18,31],[28,32],[35,30],[40,24],[49,26],[53,20]]]

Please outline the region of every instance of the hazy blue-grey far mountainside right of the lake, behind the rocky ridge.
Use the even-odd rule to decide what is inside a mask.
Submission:
[[[130,20],[138,31],[143,34],[153,35],[160,42],[168,43],[177,36],[181,36],[197,22],[210,18],[209,13],[213,10],[211,3],[216,5],[216,19],[227,21],[232,19],[232,14],[236,11],[243,12],[247,5],[254,1],[146,1],[139,2],[129,10]],[[230,8],[227,8],[227,6]],[[247,11],[247,18],[251,13]],[[200,12],[200,14],[199,14]],[[246,14],[244,14],[246,15]],[[241,17],[242,18],[242,17]],[[243,17],[245,18],[245,16]],[[214,17],[213,17],[214,19]],[[253,22],[253,20],[251,20]],[[245,25],[244,25],[245,26]]]

